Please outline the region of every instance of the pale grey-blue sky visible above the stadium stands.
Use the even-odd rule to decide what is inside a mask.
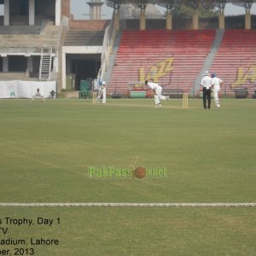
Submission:
[[[71,13],[74,15],[75,20],[89,20],[89,0],[71,0]],[[105,1],[102,1],[105,2]],[[156,5],[157,6],[157,5]],[[166,9],[160,8],[163,12]],[[113,9],[108,7],[105,3],[102,5],[102,20],[111,19]],[[229,15],[245,15],[245,9],[243,7],[236,6],[234,4],[227,3],[224,9],[224,14]],[[251,14],[256,15],[256,3],[253,3]]]

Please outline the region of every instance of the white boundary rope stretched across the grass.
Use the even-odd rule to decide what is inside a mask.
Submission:
[[[256,203],[0,203],[0,207],[256,207]]]

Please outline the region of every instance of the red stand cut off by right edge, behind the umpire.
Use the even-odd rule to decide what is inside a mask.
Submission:
[[[234,95],[238,87],[253,95],[256,82],[256,31],[226,30],[211,71],[224,80],[222,95]]]

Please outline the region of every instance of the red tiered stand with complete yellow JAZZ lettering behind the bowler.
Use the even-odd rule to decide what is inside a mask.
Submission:
[[[108,91],[154,78],[163,88],[189,92],[215,38],[215,30],[124,30]]]

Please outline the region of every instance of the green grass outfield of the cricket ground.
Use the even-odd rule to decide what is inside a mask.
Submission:
[[[220,102],[1,100],[0,202],[256,202],[256,101]],[[89,166],[124,169],[135,157],[136,166],[165,167],[165,177],[88,177]],[[59,244],[31,244],[41,237]],[[0,253],[256,255],[256,208],[0,207],[0,241],[8,238],[26,245],[0,244]]]

